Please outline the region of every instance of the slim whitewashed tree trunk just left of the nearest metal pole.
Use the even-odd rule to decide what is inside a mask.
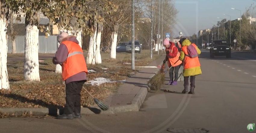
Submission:
[[[111,50],[110,50],[110,58],[116,59],[117,55],[117,35],[118,35],[118,25],[114,26],[114,31],[111,35]]]

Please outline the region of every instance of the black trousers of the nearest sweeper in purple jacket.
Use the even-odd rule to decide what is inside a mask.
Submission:
[[[66,104],[64,107],[65,114],[81,112],[81,90],[85,80],[75,81],[66,84]]]

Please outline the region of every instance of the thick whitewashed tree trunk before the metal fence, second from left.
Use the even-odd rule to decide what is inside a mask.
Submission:
[[[26,20],[27,19],[26,15]],[[37,17],[37,16],[34,16]],[[26,22],[25,53],[24,53],[24,79],[40,81],[38,61],[38,35],[39,29],[31,22]]]

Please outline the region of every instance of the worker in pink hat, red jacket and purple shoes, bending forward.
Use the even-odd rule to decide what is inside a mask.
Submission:
[[[179,69],[182,65],[182,61],[179,60],[180,52],[178,51],[178,48],[175,46],[175,44],[166,38],[163,42],[165,46],[166,51],[166,57],[164,59],[164,64],[166,61],[168,61],[168,67],[171,67],[169,69],[169,75],[170,75],[170,81],[168,85],[177,85],[178,76],[179,76]],[[175,78],[173,80],[173,70],[175,69]]]

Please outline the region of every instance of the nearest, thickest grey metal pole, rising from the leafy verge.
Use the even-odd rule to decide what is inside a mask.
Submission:
[[[132,70],[135,70],[135,53],[134,53],[134,0],[132,0]]]

